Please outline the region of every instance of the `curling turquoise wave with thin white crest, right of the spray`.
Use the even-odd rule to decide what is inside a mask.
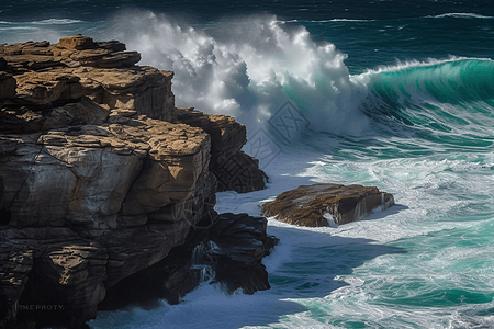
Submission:
[[[400,63],[352,79],[369,89],[364,103],[369,116],[392,118],[400,128],[434,132],[427,135],[430,139],[454,136],[458,143],[493,137],[493,73],[491,59],[451,57]]]

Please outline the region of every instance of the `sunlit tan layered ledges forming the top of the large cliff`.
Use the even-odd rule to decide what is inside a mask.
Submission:
[[[1,135],[21,140],[22,134],[37,134],[37,144],[45,146],[111,147],[156,160],[198,154],[210,137],[200,128],[165,122],[166,100],[146,93],[165,94],[173,73],[135,66],[139,59],[120,42],[82,35],[53,45],[0,45]],[[162,109],[149,110],[160,102]]]

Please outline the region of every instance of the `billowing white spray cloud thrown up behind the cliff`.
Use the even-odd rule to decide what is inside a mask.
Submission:
[[[115,18],[109,32],[142,53],[144,65],[175,71],[179,106],[228,114],[252,131],[291,100],[315,131],[358,135],[366,88],[350,81],[346,55],[316,44],[303,26],[272,15],[191,25],[151,12]]]

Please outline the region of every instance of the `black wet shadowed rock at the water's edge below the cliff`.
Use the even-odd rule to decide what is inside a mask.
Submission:
[[[221,214],[214,223],[199,225],[189,235],[187,243],[110,288],[99,308],[154,307],[160,298],[177,304],[205,282],[220,283],[228,293],[242,290],[254,294],[270,288],[268,272],[261,261],[279,240],[267,235],[266,218]]]

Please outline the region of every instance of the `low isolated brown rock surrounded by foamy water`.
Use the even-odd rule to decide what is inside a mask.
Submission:
[[[299,226],[328,226],[325,215],[337,225],[369,215],[377,207],[394,204],[393,195],[375,186],[313,184],[302,185],[262,205],[265,216]]]

